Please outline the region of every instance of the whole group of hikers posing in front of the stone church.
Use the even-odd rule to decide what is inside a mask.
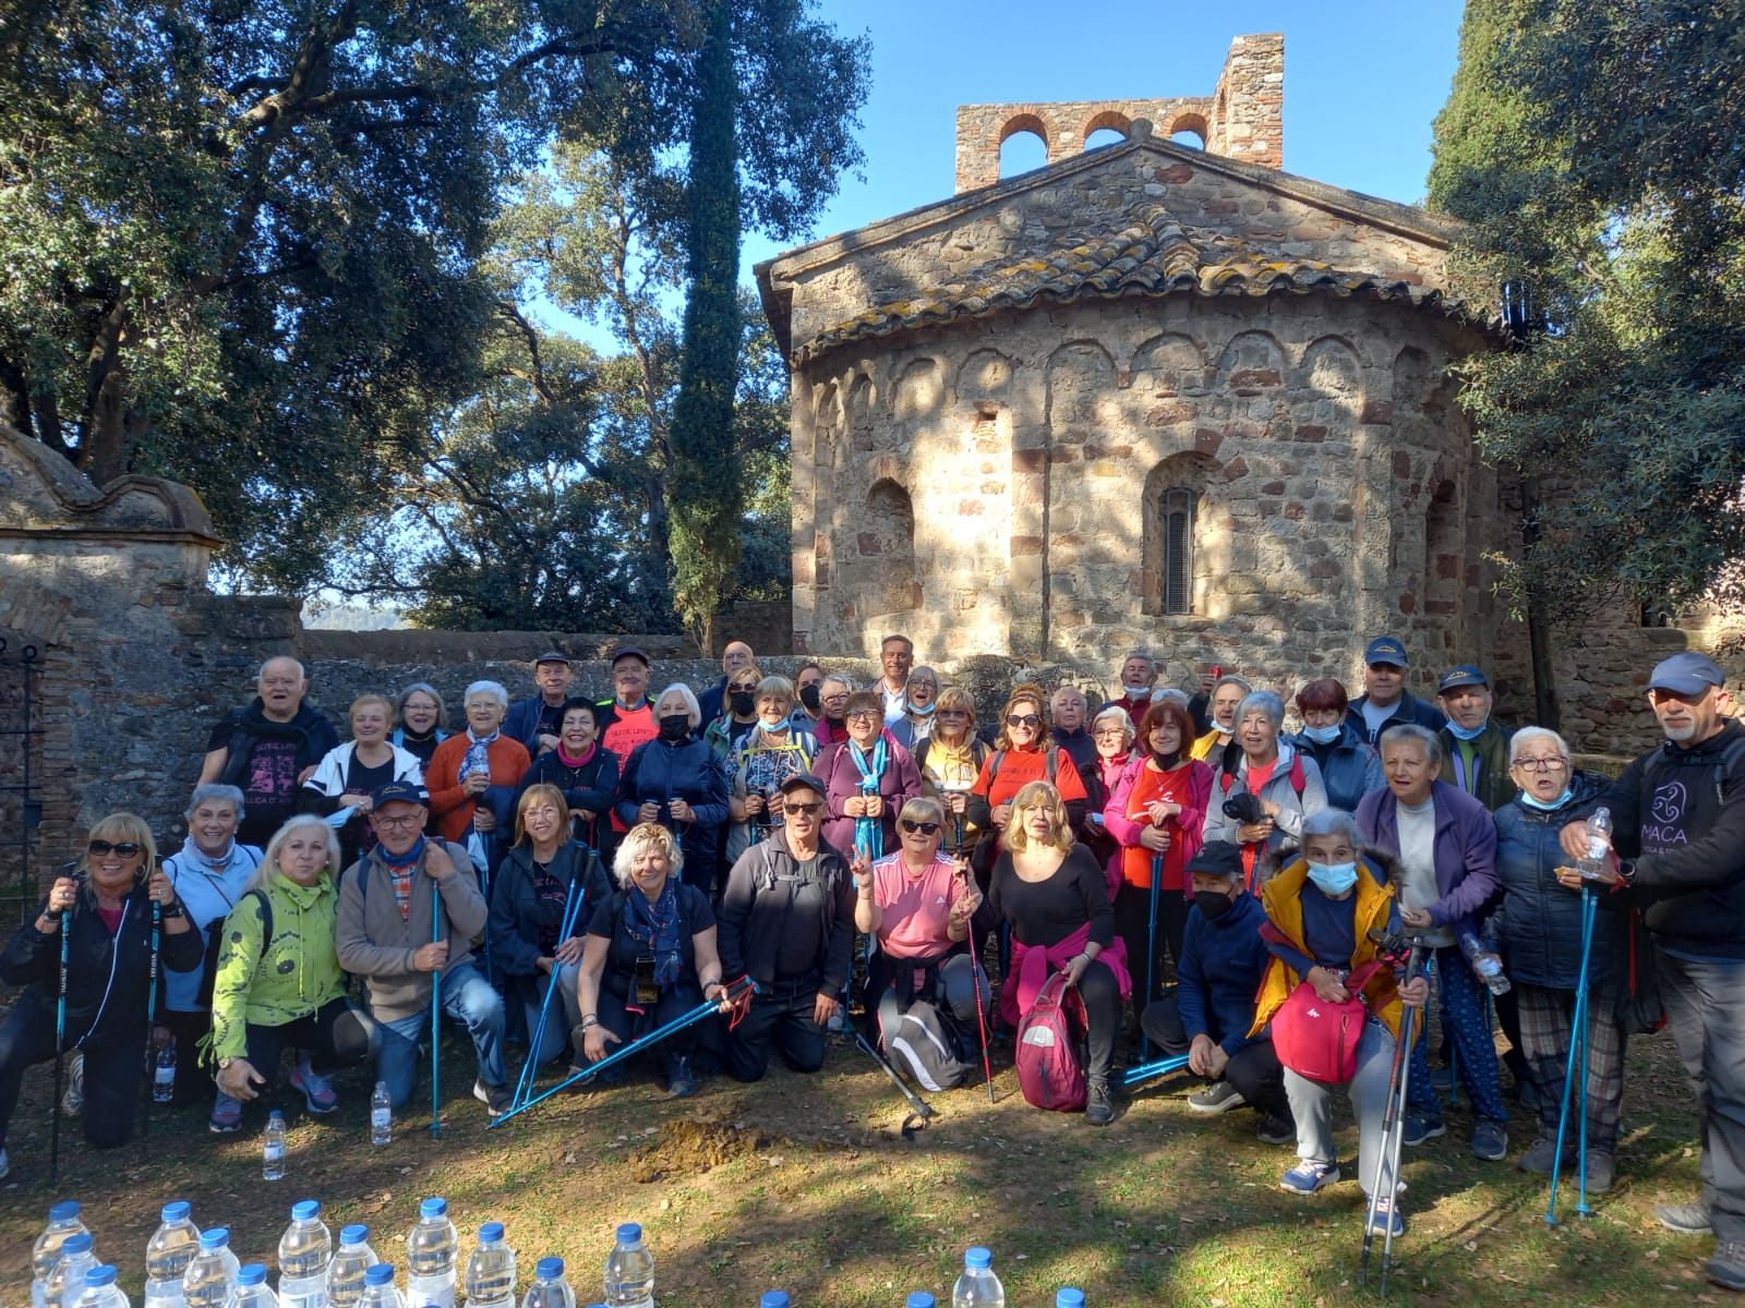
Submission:
[[[1220,670],[1192,694],[1159,689],[1143,652],[1094,715],[1078,687],[1023,684],[979,724],[975,699],[913,656],[888,637],[881,677],[857,687],[817,664],[764,675],[733,642],[698,698],[649,696],[647,656],[623,649],[612,696],[592,703],[548,652],[527,699],[469,685],[454,734],[429,685],[361,696],[346,743],[304,670],[269,661],[211,736],[183,846],[159,865],[140,818],[96,823],[0,957],[26,987],[0,1022],[0,1172],[21,1074],[58,1046],[82,1055],[96,1146],[126,1139],[148,1043],[178,1050],[178,1100],[216,1081],[215,1132],[239,1128],[286,1052],[312,1113],[365,1060],[401,1104],[433,1003],[469,1032],[492,1114],[511,1102],[510,1041],[586,1067],[724,1005],[742,977],[749,1008],[660,1046],[668,1092],[712,1069],[757,1080],[771,1057],[810,1073],[850,1020],[859,935],[874,1038],[923,998],[965,1031],[1012,1031],[1064,971],[1084,1001],[1087,1121],[1117,1113],[1124,1043],[1155,1043],[1202,1078],[1194,1111],[1248,1106],[1260,1139],[1295,1144],[1281,1181],[1305,1195],[1340,1179],[1342,1088],[1372,1188],[1399,1017],[1433,998],[1473,1153],[1508,1155],[1506,1066],[1537,1127],[1520,1167],[1550,1172],[1583,985],[1586,1184],[1607,1189],[1626,1038],[1653,1025],[1658,989],[1703,1135],[1701,1200],[1659,1216],[1714,1230],[1710,1277],[1745,1289],[1745,727],[1714,663],[1653,670],[1666,743],[1612,780],[1576,769],[1555,731],[1497,724],[1476,666],[1441,671],[1436,705],[1410,696],[1391,637],[1366,647],[1358,698],[1335,678],[1298,687],[1290,734],[1279,692]],[[1616,835],[1595,865],[1600,806]],[[1602,907],[1586,947],[1584,895]],[[1422,971],[1384,954],[1401,935]],[[1345,1081],[1274,1046],[1304,987],[1363,999]],[[1406,1144],[1447,1128],[1431,1053],[1420,1034]],[[1403,1230],[1396,1195],[1368,1212]]]

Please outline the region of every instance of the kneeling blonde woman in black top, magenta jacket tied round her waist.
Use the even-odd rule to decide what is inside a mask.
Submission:
[[[1115,912],[1103,869],[1089,849],[1073,842],[1066,804],[1047,781],[1030,781],[1012,795],[1012,820],[993,865],[988,903],[1012,928],[1012,968],[1000,985],[1000,1015],[1016,1029],[1049,975],[1066,973],[1085,1003],[1091,1046],[1085,1121],[1106,1127],[1115,1120],[1108,1069],[1120,1034],[1120,1005],[1133,984],[1122,959],[1108,952]]]

